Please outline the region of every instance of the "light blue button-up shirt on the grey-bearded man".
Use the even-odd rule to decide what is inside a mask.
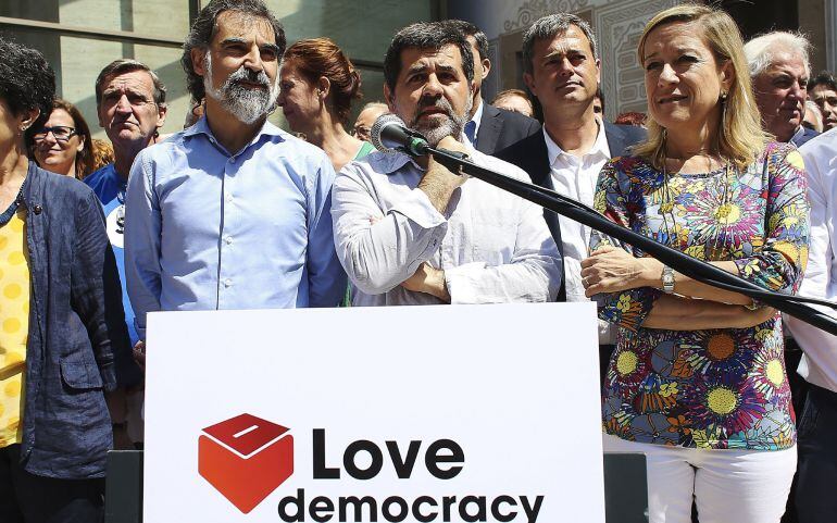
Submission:
[[[235,154],[207,119],[145,149],[130,170],[125,269],[146,313],[337,306],[328,157],[266,122]]]

